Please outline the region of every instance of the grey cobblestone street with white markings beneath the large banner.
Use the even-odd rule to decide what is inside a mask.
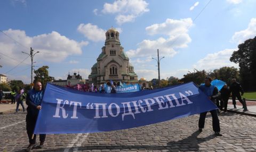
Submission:
[[[28,146],[25,116],[0,115],[0,151]],[[223,137],[213,135],[210,114],[202,133],[197,122],[194,115],[121,131],[47,135],[45,148],[33,151],[256,151],[256,117],[221,113]]]

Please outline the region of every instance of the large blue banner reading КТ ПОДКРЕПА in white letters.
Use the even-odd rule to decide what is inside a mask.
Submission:
[[[194,83],[131,93],[90,93],[48,83],[35,134],[129,129],[217,109]]]

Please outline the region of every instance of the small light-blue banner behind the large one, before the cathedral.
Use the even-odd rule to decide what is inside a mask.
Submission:
[[[111,86],[105,85],[105,92],[110,93],[111,92]],[[137,92],[140,91],[140,85],[139,84],[131,84],[131,85],[125,85],[125,86],[117,86],[116,87],[116,93],[127,93],[127,92]]]

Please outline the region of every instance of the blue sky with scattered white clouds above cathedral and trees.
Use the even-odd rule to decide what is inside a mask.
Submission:
[[[30,58],[21,52],[33,47],[40,52],[35,69],[47,65],[56,79],[79,71],[87,79],[111,26],[139,78],[157,78],[151,59],[157,49],[165,57],[161,78],[238,67],[229,58],[256,36],[255,6],[253,0],[0,1],[0,30],[9,36],[0,33],[0,73],[29,83]]]

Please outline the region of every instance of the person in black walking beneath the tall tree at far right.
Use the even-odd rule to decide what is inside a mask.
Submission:
[[[231,97],[232,97],[232,103],[234,105],[234,109],[236,109],[236,98],[237,98],[238,101],[241,102],[243,105],[243,108],[244,108],[243,111],[248,111],[248,109],[241,97],[241,95],[244,95],[244,90],[243,90],[242,86],[238,82],[236,82],[235,78],[232,79],[232,83],[230,85],[230,91],[232,94]],[[240,92],[241,92],[241,94],[240,94]]]

